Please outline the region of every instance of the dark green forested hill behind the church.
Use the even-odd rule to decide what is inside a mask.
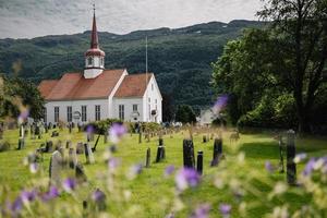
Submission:
[[[211,22],[126,35],[99,33],[99,40],[107,55],[107,69],[126,68],[130,73],[137,73],[145,71],[145,36],[148,36],[149,71],[156,74],[161,92],[171,95],[175,104],[199,108],[213,100],[210,62],[243,28],[262,25],[253,21]],[[19,76],[35,83],[58,78],[65,72],[81,72],[84,52],[89,47],[89,33],[1,39],[0,72],[17,72]]]

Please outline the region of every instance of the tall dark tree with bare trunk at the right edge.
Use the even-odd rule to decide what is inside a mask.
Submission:
[[[287,68],[278,73],[284,75],[295,99],[299,131],[310,132],[310,114],[326,83],[327,1],[267,0],[258,15],[272,20],[276,43],[288,55]]]

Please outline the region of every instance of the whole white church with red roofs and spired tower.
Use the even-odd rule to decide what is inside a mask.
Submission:
[[[87,123],[108,118],[129,122],[161,122],[162,97],[153,73],[130,75],[126,69],[106,70],[94,13],[90,48],[84,72],[43,81],[46,123]]]

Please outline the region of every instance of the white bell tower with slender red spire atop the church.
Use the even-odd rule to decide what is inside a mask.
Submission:
[[[84,77],[95,78],[105,70],[106,53],[99,48],[95,4],[93,8],[93,25],[90,34],[90,48],[85,52]]]

